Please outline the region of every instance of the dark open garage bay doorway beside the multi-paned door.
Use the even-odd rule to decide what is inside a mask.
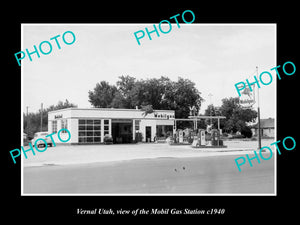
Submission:
[[[112,138],[114,144],[132,143],[132,123],[130,119],[112,119]]]

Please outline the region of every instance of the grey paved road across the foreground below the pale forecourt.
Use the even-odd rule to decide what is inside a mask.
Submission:
[[[239,172],[238,156],[136,159],[25,167],[24,194],[274,193],[274,160],[253,160]]]

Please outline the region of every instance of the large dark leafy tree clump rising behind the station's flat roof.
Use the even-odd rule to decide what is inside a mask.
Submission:
[[[187,118],[189,107],[201,107],[201,93],[195,83],[179,77],[171,81],[167,77],[137,80],[129,75],[120,76],[116,86],[102,81],[89,91],[89,102],[94,107],[139,108],[175,110],[177,118]]]

